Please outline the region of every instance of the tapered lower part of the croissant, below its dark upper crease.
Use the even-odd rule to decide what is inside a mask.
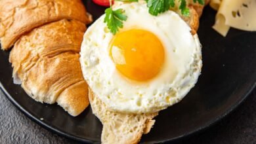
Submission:
[[[36,101],[58,102],[70,115],[88,105],[87,84],[79,63],[85,24],[60,20],[23,35],[11,50],[14,79]]]

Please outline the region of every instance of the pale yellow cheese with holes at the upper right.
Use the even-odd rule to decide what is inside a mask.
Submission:
[[[213,29],[226,36],[230,27],[256,31],[255,0],[222,0]]]

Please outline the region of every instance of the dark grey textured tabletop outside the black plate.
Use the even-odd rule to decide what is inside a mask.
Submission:
[[[214,126],[175,143],[256,143],[256,88]],[[53,134],[21,113],[0,90],[0,143],[77,143]]]

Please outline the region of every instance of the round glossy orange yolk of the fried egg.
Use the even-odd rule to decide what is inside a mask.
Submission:
[[[130,29],[114,36],[110,44],[110,56],[125,77],[148,81],[161,71],[164,48],[153,33]]]

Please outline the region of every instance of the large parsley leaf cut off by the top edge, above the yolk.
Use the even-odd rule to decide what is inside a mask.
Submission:
[[[161,12],[165,12],[174,7],[175,0],[146,0],[150,14],[157,16]]]

